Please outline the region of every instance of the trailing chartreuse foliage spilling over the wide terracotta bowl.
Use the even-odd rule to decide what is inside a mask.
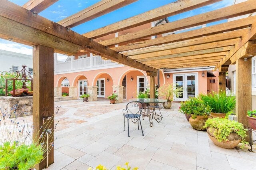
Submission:
[[[234,132],[242,138],[243,146],[248,144],[248,142],[244,140],[244,138],[247,136],[246,131],[248,130],[244,128],[242,123],[216,117],[213,119],[208,119],[205,122],[204,128],[207,127],[216,129],[213,134],[219,142],[222,142],[223,140],[228,142],[229,140],[227,137],[230,135],[230,133]]]

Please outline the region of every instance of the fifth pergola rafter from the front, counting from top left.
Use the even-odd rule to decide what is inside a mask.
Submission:
[[[214,26],[206,27],[206,28],[200,28],[197,30],[182,32],[179,34],[171,34],[169,36],[155,38],[152,40],[145,40],[145,41],[140,41],[140,42],[136,42],[136,43],[129,43],[127,45],[113,47],[111,49],[114,49],[115,51],[126,51],[126,50],[131,50],[131,49],[148,47],[148,46],[152,46],[152,45],[160,45],[160,44],[164,44],[164,43],[189,40],[191,38],[209,36],[212,34],[218,34],[218,33],[222,33],[222,32],[229,32],[229,31],[249,27],[252,25],[254,20],[256,20],[256,16],[251,16],[250,18],[243,18],[240,20],[217,24]]]

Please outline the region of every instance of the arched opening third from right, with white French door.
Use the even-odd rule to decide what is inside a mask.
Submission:
[[[86,76],[80,74],[74,78],[73,86],[78,87],[78,96],[88,93],[88,79]]]

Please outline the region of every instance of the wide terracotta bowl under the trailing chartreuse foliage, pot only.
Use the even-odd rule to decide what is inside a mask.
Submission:
[[[220,146],[222,148],[227,148],[227,149],[232,149],[234,147],[236,147],[241,141],[242,138],[241,136],[239,136],[238,134],[236,134],[235,132],[230,133],[230,135],[227,137],[228,141],[222,141],[219,142],[215,136],[214,136],[214,131],[216,130],[216,128],[207,128],[207,134],[209,136],[209,138],[212,140],[212,142],[214,144],[216,144],[217,146]]]

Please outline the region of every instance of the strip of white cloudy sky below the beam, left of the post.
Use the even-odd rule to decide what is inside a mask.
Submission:
[[[23,45],[20,43],[9,42],[8,40],[2,40],[2,39],[0,40],[0,49],[6,50],[6,51],[12,51],[16,53],[32,55],[32,47],[28,45]]]

